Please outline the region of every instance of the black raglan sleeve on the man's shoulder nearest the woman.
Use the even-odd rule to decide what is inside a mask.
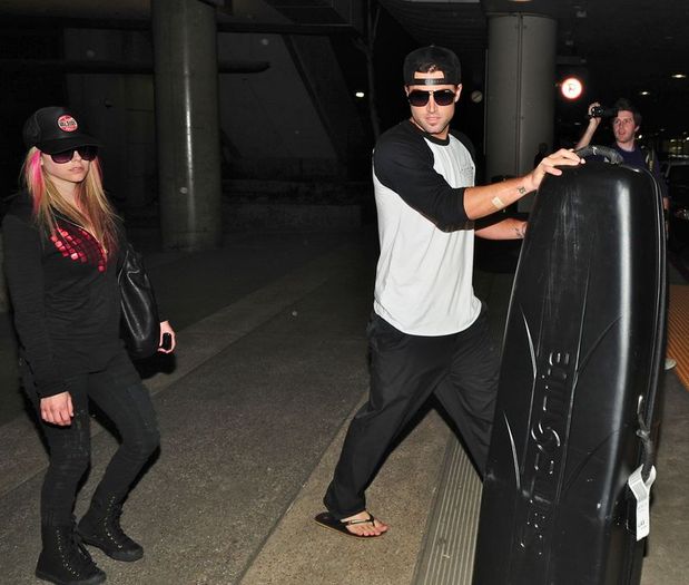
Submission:
[[[423,138],[383,137],[373,152],[377,179],[440,230],[453,230],[469,218],[464,187],[451,187],[433,168],[433,154]]]

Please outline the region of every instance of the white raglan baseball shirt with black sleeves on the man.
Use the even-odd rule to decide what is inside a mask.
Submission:
[[[459,133],[443,140],[410,120],[375,146],[374,311],[404,333],[456,333],[481,312],[472,285],[474,227],[464,211],[464,188],[475,178],[470,148]]]

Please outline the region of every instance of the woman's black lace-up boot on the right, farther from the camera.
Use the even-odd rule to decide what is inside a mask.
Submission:
[[[138,560],[144,556],[144,548],[122,530],[119,525],[121,513],[122,505],[118,498],[95,496],[77,530],[87,545],[97,546],[110,558]]]

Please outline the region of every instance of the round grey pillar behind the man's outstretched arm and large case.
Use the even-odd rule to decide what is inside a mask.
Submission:
[[[533,167],[539,143],[553,145],[555,35],[552,18],[489,17],[486,181]],[[520,209],[529,202],[520,203]]]

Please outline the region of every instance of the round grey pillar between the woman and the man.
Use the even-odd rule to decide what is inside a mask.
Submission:
[[[215,9],[152,0],[160,227],[166,250],[222,242]]]

